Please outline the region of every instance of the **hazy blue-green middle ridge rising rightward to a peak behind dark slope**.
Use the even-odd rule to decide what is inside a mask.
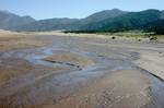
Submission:
[[[85,19],[49,19],[40,20],[27,25],[19,26],[19,31],[56,31],[56,29],[79,29],[80,26],[84,26],[89,23],[99,22],[106,19],[116,17],[127,12],[120,11],[118,9],[105,10],[102,12],[94,13]]]

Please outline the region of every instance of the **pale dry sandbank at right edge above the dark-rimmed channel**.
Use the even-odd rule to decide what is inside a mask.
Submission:
[[[141,52],[140,59],[134,62],[150,73],[164,80],[164,53],[162,51]]]

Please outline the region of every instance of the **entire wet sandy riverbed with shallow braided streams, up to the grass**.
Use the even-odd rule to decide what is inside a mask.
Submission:
[[[0,108],[164,108],[164,44],[70,35],[0,37]]]

